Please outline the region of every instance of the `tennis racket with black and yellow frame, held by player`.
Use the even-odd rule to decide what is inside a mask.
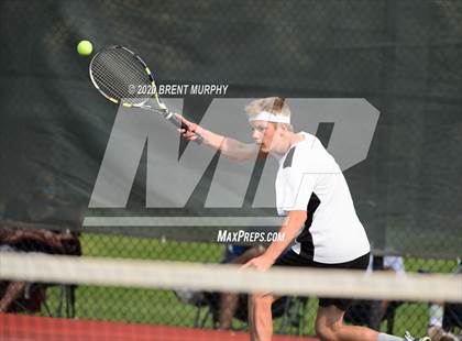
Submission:
[[[130,50],[116,45],[99,51],[90,62],[90,79],[111,102],[155,111],[177,128],[188,130],[161,101],[150,68]],[[155,101],[150,101],[151,98]],[[204,140],[197,135],[194,141],[201,143]]]

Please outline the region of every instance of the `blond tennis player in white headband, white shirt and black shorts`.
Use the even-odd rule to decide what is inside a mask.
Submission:
[[[246,160],[260,152],[274,156],[279,163],[276,206],[278,213],[287,217],[280,229],[286,238],[273,242],[261,256],[251,260],[244,267],[265,271],[273,265],[282,265],[365,271],[370,260],[370,243],[334,158],[316,136],[294,132],[290,109],[284,99],[271,97],[254,100],[246,106],[245,112],[254,144],[216,134],[178,116],[188,128],[179,130],[187,140],[195,140],[195,134],[198,134],[205,144],[220,150],[228,157]],[[271,340],[271,306],[274,299],[272,294],[252,295],[249,305],[252,340]],[[319,299],[316,333],[321,340],[416,340],[408,333],[399,338],[365,327],[344,324],[343,316],[350,301]]]

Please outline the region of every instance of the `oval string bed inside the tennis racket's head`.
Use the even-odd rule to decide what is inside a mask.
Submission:
[[[101,52],[91,64],[95,81],[102,92],[118,100],[139,105],[150,96],[138,94],[140,86],[151,85],[145,66],[121,48]]]

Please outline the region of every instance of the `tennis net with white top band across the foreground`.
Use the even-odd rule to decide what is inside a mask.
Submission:
[[[241,298],[249,293],[282,297],[273,307],[274,331],[279,334],[274,340],[296,340],[282,336],[287,333],[304,338],[312,334],[314,320],[308,311],[316,307],[319,296],[405,301],[421,305],[424,315],[428,302],[462,302],[462,277],[453,274],[399,276],[299,268],[256,272],[233,265],[44,254],[0,253],[0,280],[46,286],[52,293],[46,301],[54,305],[35,317],[0,314],[2,340],[248,340],[246,315],[238,308],[231,318],[233,326],[227,326],[233,328],[232,332],[217,328],[226,320],[223,315],[228,312],[223,309],[242,306]],[[120,301],[100,299],[107,290],[117,290]],[[141,305],[147,320],[130,317],[136,311],[124,301],[124,290],[150,293],[151,299]],[[233,302],[229,298],[232,293],[243,294]],[[70,317],[78,319],[57,319],[64,314],[50,314],[64,304],[73,306],[76,312]],[[183,308],[172,310],[173,305]],[[117,312],[113,306],[119,307]],[[424,334],[426,330],[414,332]]]

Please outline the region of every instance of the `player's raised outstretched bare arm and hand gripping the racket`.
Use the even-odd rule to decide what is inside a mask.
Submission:
[[[213,133],[186,120],[179,114],[177,114],[177,118],[182,120],[182,123],[188,127],[188,130],[179,129],[179,132],[186,140],[194,141],[197,139],[196,134],[198,134],[202,136],[204,144],[210,145],[217,151],[221,151],[221,154],[233,160],[249,160],[254,158],[257,155],[258,146],[256,144],[243,143],[234,139]]]

